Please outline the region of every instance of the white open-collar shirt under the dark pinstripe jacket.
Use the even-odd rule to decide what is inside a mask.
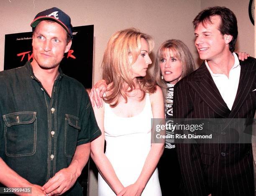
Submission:
[[[235,57],[235,63],[230,69],[228,77],[225,74],[213,74],[212,70],[207,64],[207,61],[205,60],[205,65],[209,70],[212,79],[221,94],[221,97],[223,98],[230,110],[232,109],[234,100],[236,98],[241,71],[241,66],[238,57],[236,56],[236,53],[233,53],[233,56]]]

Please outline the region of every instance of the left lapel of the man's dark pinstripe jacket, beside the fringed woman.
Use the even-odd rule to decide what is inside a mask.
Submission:
[[[221,117],[228,117],[230,109],[221,97],[205,63],[197,69],[194,80],[189,81],[189,85],[216,114]]]

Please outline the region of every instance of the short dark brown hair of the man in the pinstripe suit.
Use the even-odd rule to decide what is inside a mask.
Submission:
[[[236,39],[238,35],[236,15],[226,7],[210,7],[202,10],[193,20],[194,29],[198,27],[200,23],[212,23],[211,16],[219,15],[221,18],[219,31],[222,35],[231,35],[233,39],[229,43],[229,50],[235,51]]]

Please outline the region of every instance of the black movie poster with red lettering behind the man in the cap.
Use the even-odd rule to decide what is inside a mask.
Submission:
[[[64,74],[80,81],[85,88],[92,87],[94,25],[73,27],[70,50],[65,53],[60,67]],[[23,66],[33,58],[32,32],[5,35],[4,69]]]

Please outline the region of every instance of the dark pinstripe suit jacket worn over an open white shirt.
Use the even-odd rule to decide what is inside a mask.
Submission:
[[[253,118],[256,59],[240,61],[238,91],[230,111],[205,63],[174,87],[175,118]],[[177,144],[186,195],[253,196],[251,144]]]

